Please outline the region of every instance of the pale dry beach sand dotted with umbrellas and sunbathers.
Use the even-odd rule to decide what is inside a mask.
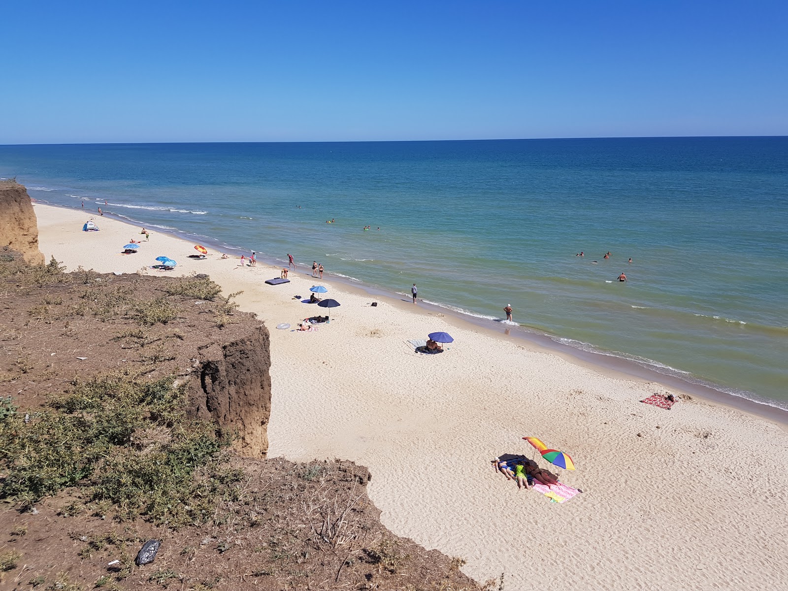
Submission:
[[[640,403],[666,388],[315,280],[311,259],[297,261],[291,283],[269,286],[279,268],[262,262],[241,267],[215,251],[195,261],[192,243],[158,232],[124,256],[119,247],[139,228],[98,218],[100,232],[82,232],[87,212],[35,212],[41,250],[69,269],[133,273],[167,255],[179,262],[171,274],[209,273],[225,294],[243,290],[241,309],[271,333],[269,455],[369,466],[385,525],[466,559],[478,581],[504,573],[506,589],[540,591],[788,589],[781,426],[697,398],[671,411]],[[275,329],[325,312],[292,299],[318,283],[341,303],[330,324]],[[443,354],[405,343],[438,330],[455,338]],[[571,454],[574,472],[538,461],[583,492],[551,503],[496,474],[496,455],[537,457],[524,436]]]

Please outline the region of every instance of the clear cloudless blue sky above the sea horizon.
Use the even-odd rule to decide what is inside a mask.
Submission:
[[[788,2],[7,2],[0,143],[788,135]]]

